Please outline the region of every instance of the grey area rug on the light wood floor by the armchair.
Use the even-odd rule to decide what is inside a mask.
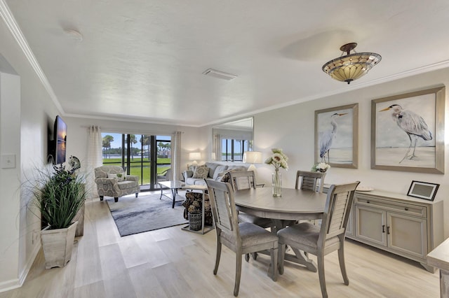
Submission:
[[[120,236],[187,223],[182,216],[182,202],[177,202],[175,208],[171,208],[173,201],[167,197],[159,197],[159,194],[140,193],[138,198],[134,195],[126,196],[119,198],[118,202],[114,202],[114,198],[105,197]],[[177,197],[177,200],[180,198]]]

